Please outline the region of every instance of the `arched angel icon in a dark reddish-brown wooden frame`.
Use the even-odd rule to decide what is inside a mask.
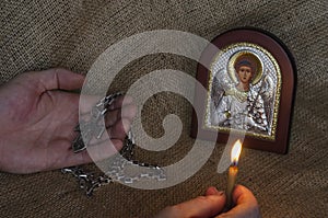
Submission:
[[[294,85],[289,51],[255,30],[231,31],[212,44],[219,53],[204,50],[201,58],[210,65],[198,66],[197,79],[208,94],[196,97],[206,102],[203,121],[192,119],[191,136],[198,126],[200,138],[216,131],[218,142],[224,142],[234,130],[245,134],[245,147],[286,152]]]

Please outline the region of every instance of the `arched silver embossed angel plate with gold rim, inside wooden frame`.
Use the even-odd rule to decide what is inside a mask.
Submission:
[[[250,69],[249,79],[238,72],[243,66]],[[274,139],[281,72],[268,50],[250,43],[230,45],[213,59],[209,77],[206,127]]]

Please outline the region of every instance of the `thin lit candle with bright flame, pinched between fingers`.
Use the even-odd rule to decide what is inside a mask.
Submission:
[[[233,206],[233,190],[235,187],[236,177],[238,173],[238,159],[242,152],[242,142],[237,140],[231,150],[231,165],[227,173],[227,186],[226,186],[226,209],[231,209]]]

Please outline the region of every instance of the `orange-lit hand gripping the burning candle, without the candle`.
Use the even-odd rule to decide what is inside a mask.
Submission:
[[[231,210],[222,213],[225,206],[225,195],[215,187],[209,187],[206,196],[199,196],[188,202],[166,207],[156,218],[259,218],[258,204],[251,192],[237,185],[233,193],[236,204]],[[222,213],[222,214],[221,214]]]

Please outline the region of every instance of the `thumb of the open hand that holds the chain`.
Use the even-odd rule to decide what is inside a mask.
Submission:
[[[54,68],[44,71],[23,73],[28,82],[35,83],[37,91],[43,93],[47,90],[75,90],[83,85],[85,77],[72,71]]]

